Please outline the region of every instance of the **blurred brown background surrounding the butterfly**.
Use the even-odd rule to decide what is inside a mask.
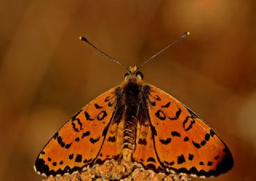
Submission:
[[[42,179],[33,164],[44,144],[122,81],[124,69],[80,35],[139,65],[186,31],[190,37],[143,67],[145,80],[192,108],[230,147],[234,169],[209,180],[256,180],[254,0],[0,3],[0,180]]]

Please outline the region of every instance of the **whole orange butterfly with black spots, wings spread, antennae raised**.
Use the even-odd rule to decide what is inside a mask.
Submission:
[[[220,175],[234,165],[229,148],[214,130],[173,96],[143,81],[136,66],[130,67],[121,85],[71,117],[42,149],[35,170],[64,175],[110,159],[201,177]]]

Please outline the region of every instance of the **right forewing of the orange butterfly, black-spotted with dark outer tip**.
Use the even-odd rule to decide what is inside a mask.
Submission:
[[[229,148],[189,108],[153,85],[148,101],[154,148],[162,167],[202,177],[217,176],[233,167]]]

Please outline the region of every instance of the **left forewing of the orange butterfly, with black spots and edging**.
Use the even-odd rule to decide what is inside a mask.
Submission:
[[[116,101],[115,89],[86,104],[53,136],[38,155],[35,163],[38,173],[48,176],[81,171],[82,167],[95,163],[98,155],[102,160],[117,155],[116,148],[121,148],[118,144],[110,145],[113,150],[109,154],[100,153],[102,148],[106,152],[103,147],[106,133],[116,129],[115,125],[110,125]],[[109,134],[111,131],[108,137]]]

